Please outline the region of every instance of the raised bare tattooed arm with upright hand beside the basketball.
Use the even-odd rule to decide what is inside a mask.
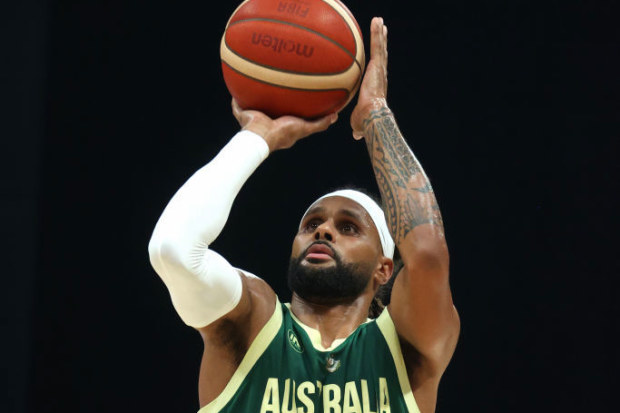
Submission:
[[[351,125],[354,137],[366,140],[386,220],[404,263],[389,311],[401,340],[413,347],[403,352],[416,388],[424,377],[437,381],[441,377],[456,346],[459,318],[452,303],[448,248],[433,188],[385,99],[387,28],[381,19],[374,19],[371,32],[371,59]]]

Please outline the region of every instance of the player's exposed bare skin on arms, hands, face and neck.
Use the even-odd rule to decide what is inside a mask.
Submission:
[[[456,346],[460,322],[450,292],[448,249],[437,201],[420,163],[398,129],[386,97],[387,28],[382,19],[374,18],[370,61],[351,126],[356,139],[366,140],[386,205],[386,220],[404,262],[388,308],[400,337],[416,402],[422,413],[431,413],[435,411],[439,380]],[[325,130],[337,118],[334,114],[312,122],[290,116],[270,119],[260,112],[244,111],[234,101],[232,107],[242,128],[262,136],[271,152]],[[347,262],[361,262],[373,268],[364,291],[346,302],[317,303],[293,293],[292,312],[303,323],[319,330],[323,346],[328,347],[366,319],[377,289],[392,276],[393,262],[383,256],[376,228],[355,202],[332,197],[319,201],[315,207],[302,221],[291,256],[299,256],[313,242],[322,240]],[[322,259],[309,257],[302,265],[333,265],[329,258],[318,258]],[[275,293],[263,280],[242,274],[242,282],[242,297],[235,309],[199,329],[204,340],[199,383],[201,406],[222,392],[275,308]]]

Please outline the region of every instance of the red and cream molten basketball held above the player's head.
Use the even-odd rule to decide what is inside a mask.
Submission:
[[[220,56],[239,106],[273,118],[338,112],[365,64],[359,25],[339,0],[246,0],[228,20]]]

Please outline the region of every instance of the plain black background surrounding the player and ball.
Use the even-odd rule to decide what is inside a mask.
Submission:
[[[174,191],[236,132],[219,39],[237,2],[5,5],[7,412],[192,412],[201,340],[148,263]],[[359,1],[431,178],[461,339],[438,412],[611,412],[619,274],[614,1]],[[345,109],[273,154],[213,248],[282,299],[326,190],[376,191]]]

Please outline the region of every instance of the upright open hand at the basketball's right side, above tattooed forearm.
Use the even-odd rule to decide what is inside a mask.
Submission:
[[[351,114],[353,137],[364,137],[364,120],[373,110],[387,108],[387,26],[381,17],[370,22],[370,61]]]

